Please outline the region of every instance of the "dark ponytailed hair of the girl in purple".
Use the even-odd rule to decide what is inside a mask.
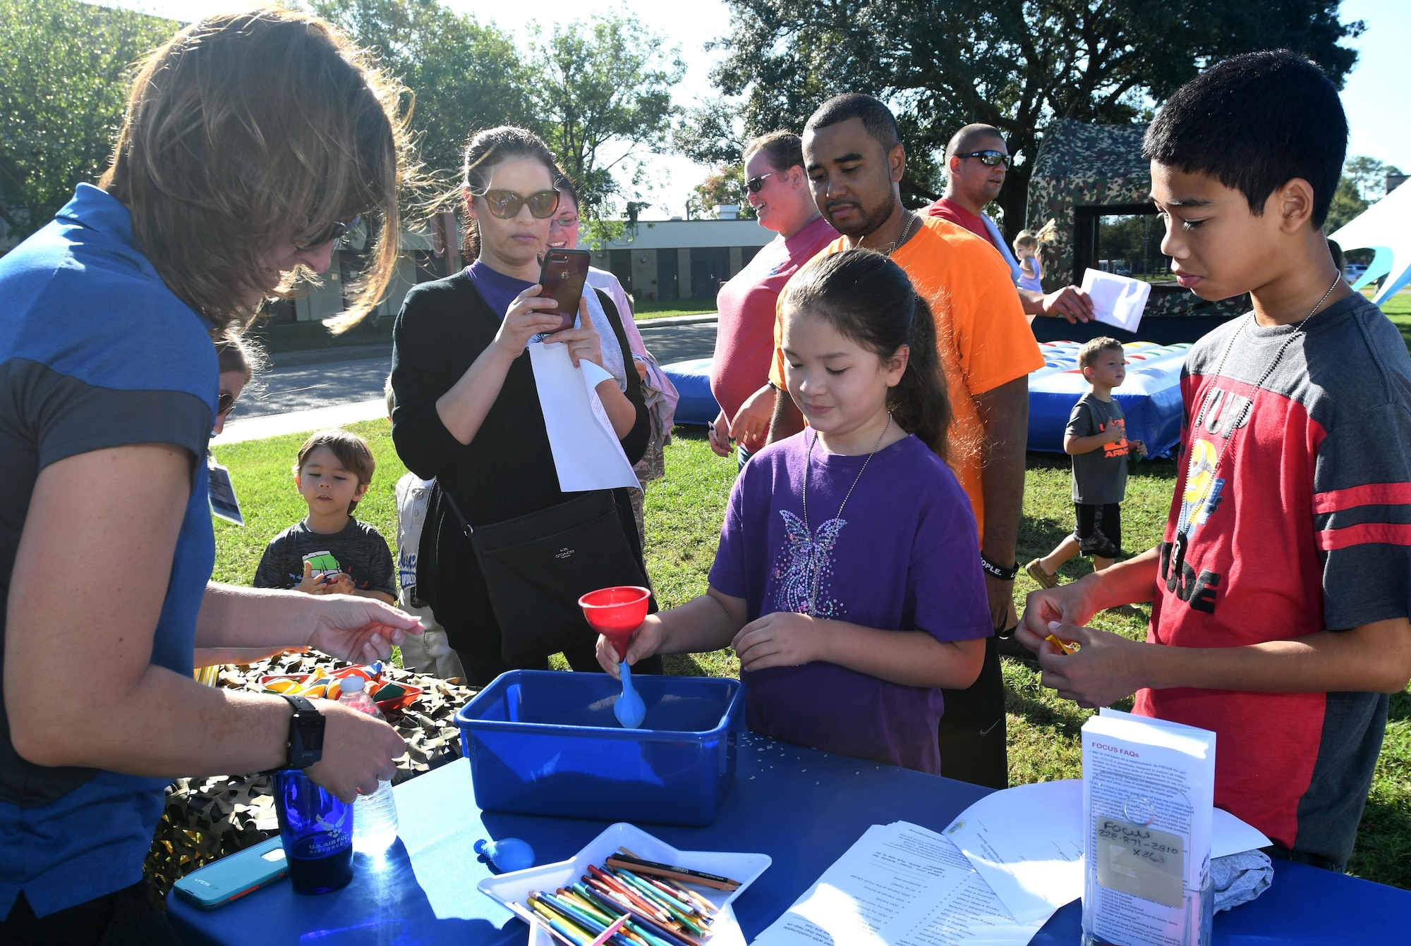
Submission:
[[[888,392],[888,410],[937,457],[948,458],[951,400],[935,351],[935,319],[904,269],[872,250],[825,254],[794,274],[785,303],[824,319],[879,358],[907,345],[906,371]]]

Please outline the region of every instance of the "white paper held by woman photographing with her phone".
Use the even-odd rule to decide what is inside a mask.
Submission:
[[[632,464],[598,399],[597,386],[612,375],[591,361],[574,368],[567,345],[557,341],[535,341],[528,348],[559,489],[636,486]]]

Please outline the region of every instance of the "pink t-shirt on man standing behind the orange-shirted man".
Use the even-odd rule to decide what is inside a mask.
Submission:
[[[785,283],[837,238],[838,233],[827,220],[814,217],[787,240],[775,237],[720,288],[715,296],[720,326],[710,389],[727,419],[732,419],[745,399],[769,381],[769,364],[775,354],[775,306]],[[749,451],[763,446],[763,440],[744,444]]]

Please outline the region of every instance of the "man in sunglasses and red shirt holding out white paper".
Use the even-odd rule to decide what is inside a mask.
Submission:
[[[923,213],[959,224],[989,242],[1009,264],[1009,272],[1017,283],[1023,275],[1019,261],[999,227],[985,213],[985,204],[998,197],[999,189],[1005,186],[1009,165],[1009,148],[1005,147],[999,128],[986,124],[965,125],[945,145],[945,193]],[[1053,316],[1070,323],[1092,320],[1092,299],[1078,286],[1064,286],[1047,295],[1017,286],[1016,292],[1030,321],[1034,316]]]

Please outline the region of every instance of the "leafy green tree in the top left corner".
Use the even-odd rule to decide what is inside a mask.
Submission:
[[[0,219],[25,237],[109,164],[133,63],[176,24],[75,0],[0,0]]]

